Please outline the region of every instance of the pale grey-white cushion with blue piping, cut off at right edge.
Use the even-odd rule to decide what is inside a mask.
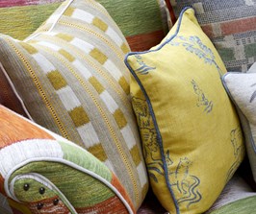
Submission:
[[[246,151],[256,181],[256,73],[228,73],[223,77],[223,83],[239,111]]]

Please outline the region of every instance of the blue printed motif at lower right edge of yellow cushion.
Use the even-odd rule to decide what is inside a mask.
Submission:
[[[227,173],[226,181],[228,181],[230,178],[232,178],[235,171],[237,170],[237,168],[243,161],[244,148],[243,148],[242,144],[240,144],[242,137],[243,137],[243,135],[242,135],[242,131],[240,128],[234,129],[230,132],[230,142],[233,146],[233,153],[234,153],[235,161]]]

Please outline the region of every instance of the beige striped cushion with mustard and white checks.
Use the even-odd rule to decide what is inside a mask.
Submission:
[[[109,13],[68,0],[26,41],[2,35],[0,43],[4,74],[30,118],[87,148],[140,207],[148,181],[123,62],[129,46]]]

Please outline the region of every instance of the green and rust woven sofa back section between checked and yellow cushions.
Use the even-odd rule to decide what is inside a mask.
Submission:
[[[157,45],[167,33],[165,0],[98,0],[114,18],[132,51]]]

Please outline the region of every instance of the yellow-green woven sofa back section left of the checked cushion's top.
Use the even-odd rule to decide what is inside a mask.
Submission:
[[[1,0],[0,33],[24,39],[54,12],[64,0]]]

